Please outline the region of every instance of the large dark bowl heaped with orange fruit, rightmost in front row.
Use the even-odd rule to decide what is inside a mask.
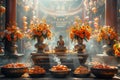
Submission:
[[[106,64],[96,64],[91,67],[91,73],[100,78],[112,78],[117,72],[117,67]]]

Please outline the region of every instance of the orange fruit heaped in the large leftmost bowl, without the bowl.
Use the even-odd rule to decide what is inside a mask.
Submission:
[[[24,63],[10,63],[3,66],[3,68],[25,68],[27,67]]]

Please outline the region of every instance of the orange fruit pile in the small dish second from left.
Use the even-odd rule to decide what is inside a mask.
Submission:
[[[40,66],[34,66],[29,69],[29,74],[44,74],[46,73],[45,69]]]

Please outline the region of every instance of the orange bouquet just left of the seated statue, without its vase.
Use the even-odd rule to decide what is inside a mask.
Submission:
[[[46,23],[31,24],[30,32],[33,39],[40,37],[43,37],[44,39],[50,39],[52,36],[50,25]]]

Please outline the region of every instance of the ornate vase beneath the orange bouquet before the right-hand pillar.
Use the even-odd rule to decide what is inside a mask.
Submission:
[[[107,40],[106,41],[105,53],[108,56],[114,56],[113,45],[114,45],[114,41],[113,40]]]

